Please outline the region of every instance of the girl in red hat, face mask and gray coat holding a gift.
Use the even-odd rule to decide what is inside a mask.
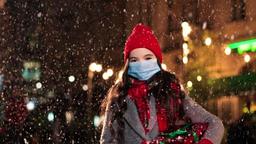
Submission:
[[[221,142],[220,119],[196,104],[176,75],[161,68],[162,52],[149,27],[133,29],[124,54],[123,77],[102,103],[101,143],[149,143],[186,117],[210,124],[199,143]]]

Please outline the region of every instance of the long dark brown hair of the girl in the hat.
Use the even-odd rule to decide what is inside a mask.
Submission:
[[[154,86],[152,87],[152,93],[156,99],[158,99],[159,95],[164,96],[164,99],[160,99],[161,106],[165,107],[167,113],[171,113],[170,101],[172,98],[179,98],[181,101],[184,99],[184,92],[181,91],[181,84],[179,83],[179,79],[176,75],[162,69],[161,62],[158,59],[158,65],[161,69],[159,72],[159,76],[157,76],[154,80]],[[109,109],[109,112],[113,113],[113,117],[110,118],[108,124],[110,128],[110,132],[112,134],[111,139],[109,142],[112,142],[117,136],[117,141],[119,143],[124,142],[124,113],[127,110],[127,104],[125,101],[125,97],[128,94],[129,89],[129,76],[128,76],[128,69],[129,69],[129,58],[127,58],[126,64],[123,68],[123,76],[122,79],[115,84],[112,88],[110,88],[107,97],[104,98],[101,105],[101,117],[106,117],[105,113],[106,110]],[[170,83],[174,82],[179,88],[179,95],[174,94],[170,90]],[[182,104],[181,104],[182,106]],[[179,116],[183,117],[184,112],[181,107],[179,111]],[[117,129],[114,130],[112,124],[113,122],[117,122]]]

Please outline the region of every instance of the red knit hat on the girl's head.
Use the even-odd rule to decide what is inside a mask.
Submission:
[[[158,39],[147,26],[138,24],[132,31],[130,37],[126,40],[125,44],[125,63],[130,52],[134,49],[146,48],[152,51],[156,57],[158,57],[162,63],[162,51],[160,49]]]

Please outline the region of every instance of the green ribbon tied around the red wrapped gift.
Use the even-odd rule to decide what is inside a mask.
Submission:
[[[199,137],[196,136],[196,133],[195,132],[192,132],[192,133],[188,133],[188,131],[185,131],[185,129],[187,129],[189,126],[191,125],[191,123],[187,124],[185,127],[183,127],[182,129],[180,130],[177,130],[177,131],[173,131],[172,133],[166,133],[166,134],[160,134],[158,136],[165,136],[165,135],[168,135],[169,137],[161,142],[160,144],[165,144],[166,141],[170,140],[170,139],[173,139],[175,136],[177,135],[183,135],[183,134],[193,134],[194,135],[194,141],[195,142],[199,142]]]

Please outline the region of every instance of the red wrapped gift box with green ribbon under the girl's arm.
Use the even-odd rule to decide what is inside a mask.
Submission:
[[[209,123],[193,123],[186,125],[174,125],[163,134],[159,134],[150,144],[156,143],[195,143],[198,142],[207,128]]]

